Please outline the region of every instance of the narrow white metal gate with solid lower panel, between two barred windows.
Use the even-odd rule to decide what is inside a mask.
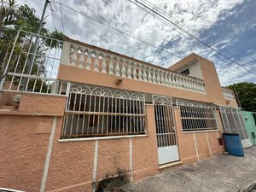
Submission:
[[[179,160],[172,98],[153,96],[159,165]]]

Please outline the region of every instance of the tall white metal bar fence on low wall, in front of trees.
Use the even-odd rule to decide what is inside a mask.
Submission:
[[[20,30],[0,90],[64,95],[67,83],[56,79],[62,47],[61,40]]]

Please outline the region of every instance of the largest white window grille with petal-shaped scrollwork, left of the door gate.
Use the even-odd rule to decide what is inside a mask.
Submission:
[[[71,84],[61,138],[145,133],[142,93]]]

